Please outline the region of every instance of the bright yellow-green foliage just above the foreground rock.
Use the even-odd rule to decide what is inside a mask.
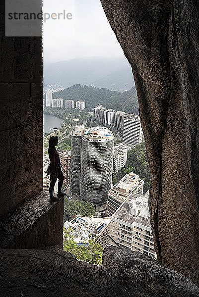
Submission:
[[[71,253],[78,260],[85,261],[91,264],[102,264],[102,247],[90,239],[88,246],[78,246],[72,236],[71,230],[64,229],[64,243],[63,249],[66,252]]]

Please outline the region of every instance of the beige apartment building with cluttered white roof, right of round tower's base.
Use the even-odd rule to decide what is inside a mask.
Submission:
[[[143,194],[144,181],[133,172],[126,174],[108,194],[107,215],[112,216],[131,193]]]

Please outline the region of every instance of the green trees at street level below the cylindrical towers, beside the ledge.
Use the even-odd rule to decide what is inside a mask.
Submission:
[[[65,201],[65,219],[69,221],[74,215],[92,216],[95,208],[89,202],[84,201]]]

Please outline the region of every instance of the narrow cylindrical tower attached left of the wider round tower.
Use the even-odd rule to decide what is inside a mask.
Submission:
[[[70,191],[72,194],[80,192],[81,137],[84,129],[83,125],[75,126],[71,133]]]

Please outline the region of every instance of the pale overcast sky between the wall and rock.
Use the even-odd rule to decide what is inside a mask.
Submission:
[[[43,23],[44,63],[94,56],[124,57],[100,0],[43,0],[43,5],[44,13],[72,13],[70,20]]]

